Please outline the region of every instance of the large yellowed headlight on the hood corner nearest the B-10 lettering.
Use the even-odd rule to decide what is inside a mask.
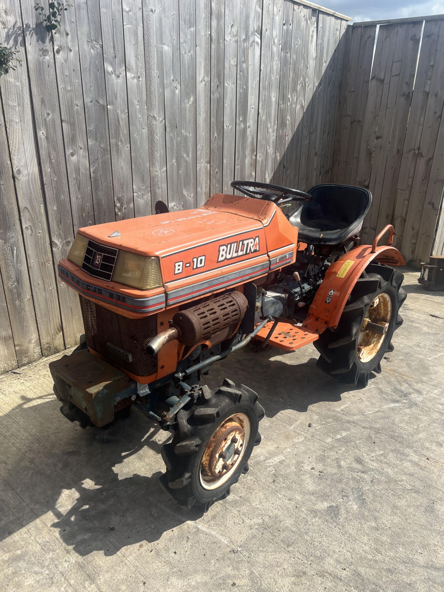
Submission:
[[[141,290],[158,288],[162,285],[159,259],[119,250],[112,281]]]

